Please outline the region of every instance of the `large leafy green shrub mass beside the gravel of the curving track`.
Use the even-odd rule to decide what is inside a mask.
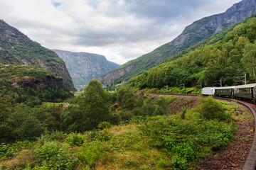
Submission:
[[[213,111],[214,107],[217,110]],[[163,149],[171,157],[174,169],[193,166],[199,157],[227,147],[233,137],[233,123],[222,122],[222,118],[201,120],[196,114],[196,111],[202,111],[201,108],[210,108],[204,109],[204,112],[221,111],[223,114],[219,115],[225,115],[225,107],[221,103],[213,98],[201,98],[195,109],[186,111],[186,117],[151,117],[140,127],[143,134],[149,137],[151,146]],[[228,119],[230,117],[225,117],[225,120]]]

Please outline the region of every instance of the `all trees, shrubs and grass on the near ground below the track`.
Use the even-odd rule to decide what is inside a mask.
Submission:
[[[109,93],[96,80],[65,109],[10,99],[0,96],[1,169],[198,169],[235,132],[235,103],[200,98],[170,115],[191,101]]]

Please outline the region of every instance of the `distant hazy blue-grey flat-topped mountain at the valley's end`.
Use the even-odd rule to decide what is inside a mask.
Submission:
[[[107,61],[103,55],[88,52],[68,52],[53,50],[67,65],[75,87],[81,88],[102,74],[119,67],[119,64]]]

